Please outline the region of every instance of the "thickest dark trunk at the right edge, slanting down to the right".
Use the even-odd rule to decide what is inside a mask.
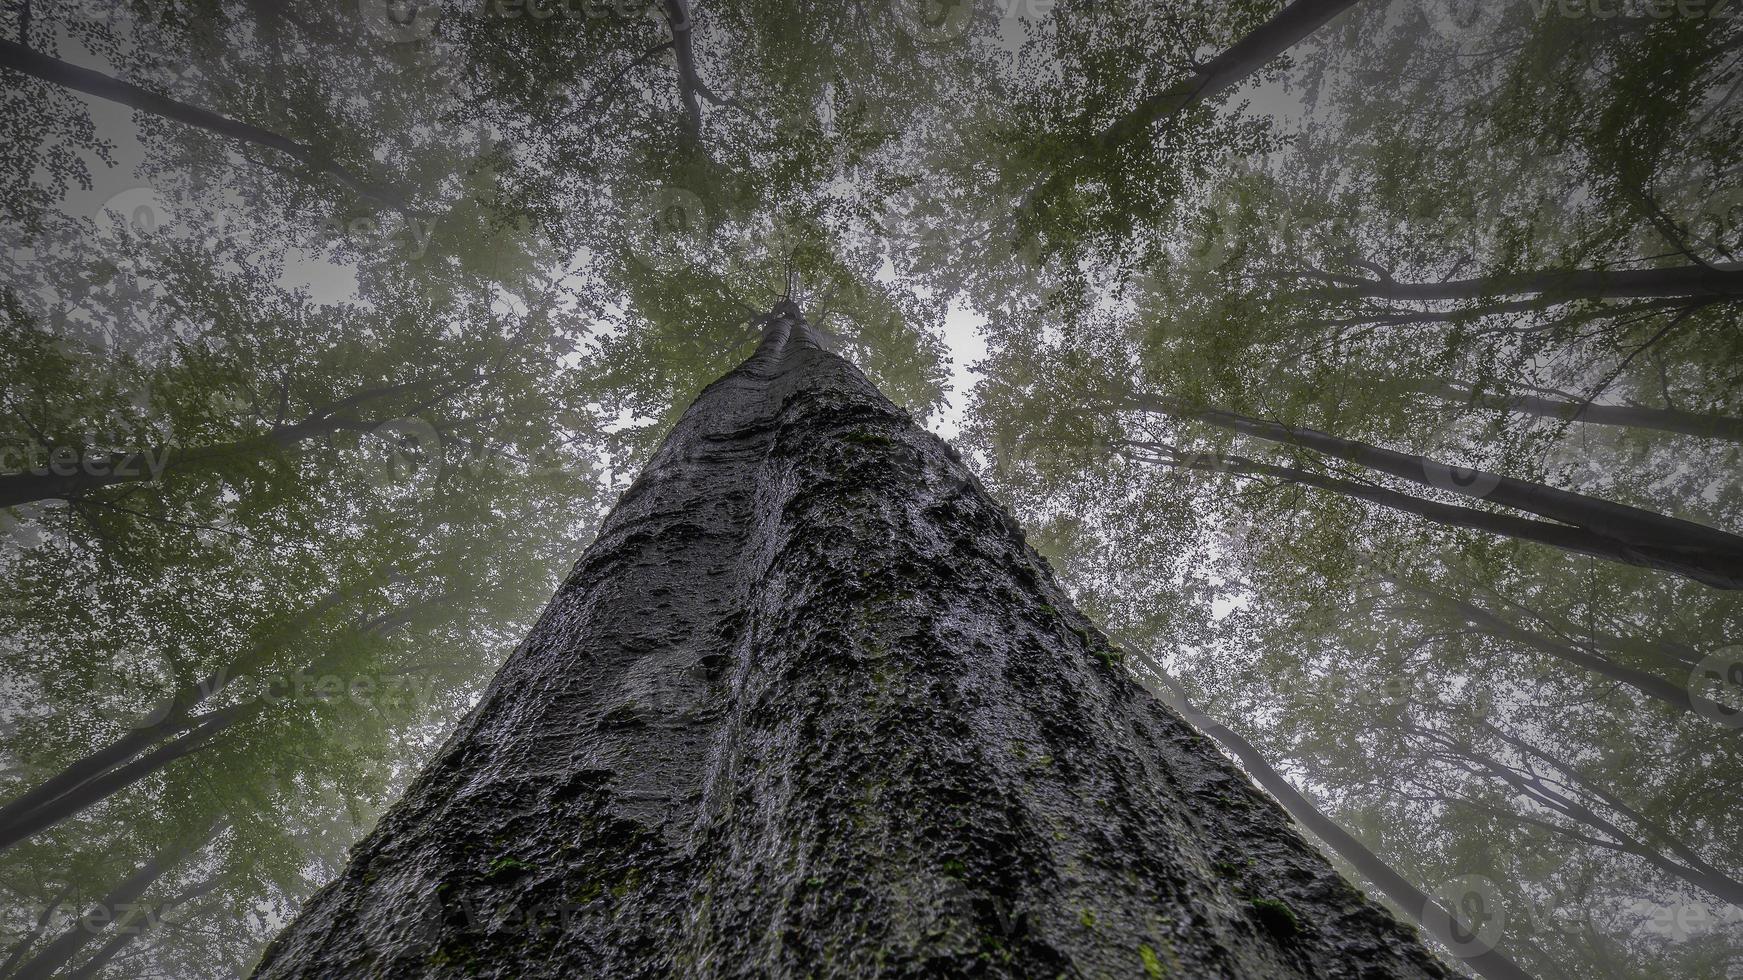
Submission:
[[[1285,425],[1218,408],[1194,408],[1159,396],[1135,396],[1129,399],[1129,406],[1175,419],[1194,419],[1255,439],[1312,450],[1419,487],[1478,497],[1551,521],[1586,528],[1626,544],[1640,556],[1640,561],[1635,563],[1652,563],[1652,567],[1673,570],[1720,589],[1743,589],[1743,537],[1731,532],[1529,480],[1450,466],[1316,429]]]

